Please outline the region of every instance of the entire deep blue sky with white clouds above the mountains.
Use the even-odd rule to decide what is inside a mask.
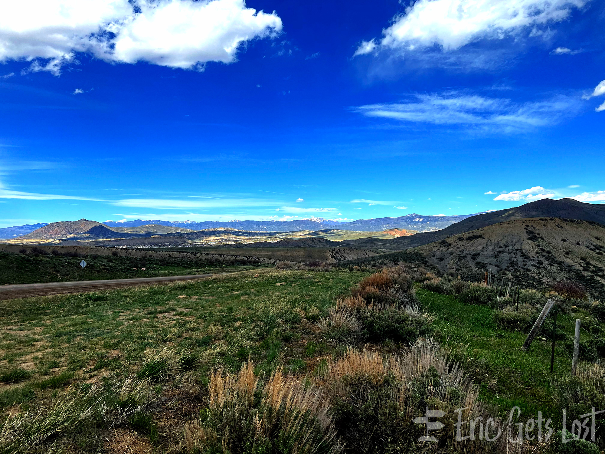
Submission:
[[[603,2],[0,8],[0,226],[605,203]]]

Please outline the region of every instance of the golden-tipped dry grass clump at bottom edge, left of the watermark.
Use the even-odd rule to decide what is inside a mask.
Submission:
[[[190,453],[342,450],[321,390],[281,367],[261,384],[251,361],[237,374],[211,373],[208,408],[185,427],[185,446]]]

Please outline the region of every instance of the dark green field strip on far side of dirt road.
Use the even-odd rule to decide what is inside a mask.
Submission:
[[[87,262],[83,272],[78,265],[82,260]],[[0,285],[207,274],[246,271],[267,266],[263,263],[242,262],[246,261],[204,260],[195,257],[191,259],[154,257],[152,255],[145,258],[84,254],[80,254],[78,257],[66,257],[53,254],[0,252]]]

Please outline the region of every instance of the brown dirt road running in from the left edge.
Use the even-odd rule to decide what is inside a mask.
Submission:
[[[70,281],[48,282],[40,284],[18,284],[0,286],[0,300],[13,298],[39,297],[58,293],[81,293],[95,290],[115,289],[120,287],[135,287],[153,285],[165,282],[185,281],[209,277],[212,274],[194,274],[189,276],[141,277],[135,279],[108,279],[99,281]]]

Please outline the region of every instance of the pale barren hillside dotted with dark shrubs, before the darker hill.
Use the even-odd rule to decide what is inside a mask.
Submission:
[[[442,272],[478,280],[485,271],[519,285],[574,280],[605,298],[605,226],[569,219],[521,219],[419,246]]]

